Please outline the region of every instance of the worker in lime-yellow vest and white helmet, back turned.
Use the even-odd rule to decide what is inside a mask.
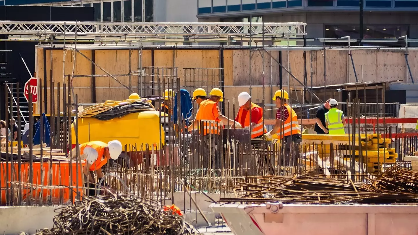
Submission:
[[[329,135],[345,134],[345,118],[344,113],[337,109],[338,102],[335,99],[329,100],[329,111],[325,114],[326,128]]]

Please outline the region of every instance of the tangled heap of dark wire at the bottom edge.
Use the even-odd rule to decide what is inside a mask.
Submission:
[[[54,227],[37,235],[196,234],[183,217],[162,211],[157,202],[131,195],[87,197],[54,217]]]

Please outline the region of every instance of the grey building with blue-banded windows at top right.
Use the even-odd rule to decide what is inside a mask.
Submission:
[[[319,38],[360,38],[359,0],[197,0],[201,21],[306,23],[311,45]],[[418,38],[418,0],[363,0],[363,38],[392,39],[370,45],[402,46],[401,36]],[[325,44],[335,45],[336,42]],[[347,44],[347,43],[346,43]],[[415,46],[416,43],[410,45]],[[356,45],[356,43],[354,43]]]

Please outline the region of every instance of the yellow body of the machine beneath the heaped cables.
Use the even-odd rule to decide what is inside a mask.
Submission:
[[[141,151],[141,145],[145,150],[146,144],[149,148],[159,149],[160,140],[165,145],[165,133],[160,124],[159,112],[143,111],[130,113],[120,118],[111,120],[99,120],[94,117],[79,118],[78,138],[79,143],[99,140],[104,143],[110,140],[119,140],[122,143],[123,150],[127,145],[127,151],[130,151],[135,145],[138,151]],[[75,121],[74,121],[75,123]],[[76,144],[74,133],[74,123],[71,124],[71,143]],[[160,138],[161,129],[161,138]]]

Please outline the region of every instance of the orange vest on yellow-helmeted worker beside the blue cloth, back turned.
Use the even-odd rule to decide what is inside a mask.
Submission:
[[[200,103],[199,110],[197,110],[196,120],[199,121],[199,133],[203,130],[203,135],[220,133],[221,123],[216,120],[217,117],[212,112],[214,105],[217,105],[217,103],[212,100],[204,100]]]

